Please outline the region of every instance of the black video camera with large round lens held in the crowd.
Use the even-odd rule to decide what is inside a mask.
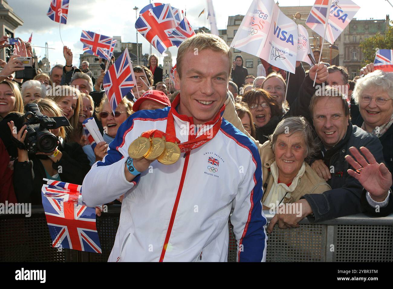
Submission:
[[[24,145],[29,153],[51,153],[54,151],[59,139],[49,130],[70,125],[65,116],[50,118],[42,114],[37,103],[26,105],[25,118],[27,119],[24,123],[27,125],[27,133]]]

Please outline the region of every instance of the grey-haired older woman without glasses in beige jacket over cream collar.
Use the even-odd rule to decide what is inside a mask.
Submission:
[[[307,161],[318,151],[310,124],[304,117],[281,120],[262,146],[263,208],[299,201],[311,193],[330,190]]]

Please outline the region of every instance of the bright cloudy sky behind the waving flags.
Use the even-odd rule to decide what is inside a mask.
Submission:
[[[393,4],[393,0],[389,0]],[[59,24],[46,16],[50,0],[8,0],[14,12],[24,21],[15,31],[15,37],[27,41],[33,32],[33,45],[45,46],[48,42],[49,60],[51,66],[56,63],[64,64],[62,56],[62,42],[59,34]],[[279,0],[279,6],[312,6],[314,0]],[[358,19],[384,19],[386,14],[393,18],[393,7],[386,0],[354,0],[360,10],[355,15]],[[246,14],[252,0],[213,0],[215,14],[217,15],[218,29],[225,29],[228,16]],[[372,4],[371,4],[372,3]],[[79,66],[79,54],[82,53],[83,44],[80,42],[82,30],[90,30],[107,36],[121,36],[123,42],[136,42],[136,29],[134,27],[135,6],[139,9],[149,4],[148,0],[70,0],[67,24],[61,24],[61,38],[64,45],[72,49],[73,64]],[[204,26],[202,15],[199,13],[205,8],[204,1],[172,0],[171,6],[187,11],[187,19],[193,28]],[[205,14],[206,15],[206,14]],[[206,17],[206,16],[205,16]],[[208,26],[208,22],[206,22]],[[149,42],[140,34],[138,41],[142,42],[143,53],[149,53]],[[44,57],[44,48],[35,48],[39,58]],[[176,55],[177,48],[169,49]],[[153,52],[159,54],[153,47]],[[160,57],[162,64],[163,57]],[[175,62],[175,59],[174,59]]]

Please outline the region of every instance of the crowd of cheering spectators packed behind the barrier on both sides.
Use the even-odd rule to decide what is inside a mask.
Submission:
[[[20,56],[31,55],[28,42],[17,46]],[[113,112],[102,87],[105,72],[95,79],[87,61],[79,71],[73,67],[72,51],[64,46],[63,54],[64,65],[53,66],[50,75],[33,64],[34,79],[15,79],[14,72],[24,69],[15,55],[0,72],[0,202],[40,204],[42,178],[82,184],[132,113],[164,109],[180,94],[170,78],[163,79],[158,58],[152,54],[148,67],[133,67],[136,86]],[[285,72],[261,61],[255,77],[243,66],[242,56],[235,57],[223,117],[259,148],[263,208],[303,204],[301,217],[277,214],[269,230],[277,222],[281,228],[297,226],[306,216],[323,221],[358,212],[391,213],[392,182],[387,170],[393,170],[393,73],[369,64],[360,71],[364,77],[349,80],[345,67],[321,63],[306,72],[297,62],[287,81]],[[108,66],[113,63],[111,59]],[[21,145],[28,103],[37,104],[48,117],[65,116],[69,121],[68,126],[50,129],[59,142],[55,151],[32,153]],[[82,127],[90,117],[104,139],[94,149]],[[350,152],[353,156],[347,156]],[[365,177],[367,166],[379,168],[373,176],[385,180],[380,181],[380,190],[367,186],[371,184]]]

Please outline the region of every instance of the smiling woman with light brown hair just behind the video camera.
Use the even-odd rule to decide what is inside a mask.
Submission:
[[[79,111],[83,102],[81,92],[75,87],[62,85],[48,91],[47,95],[59,105],[63,116],[70,121],[71,127],[68,127],[67,134],[71,135],[72,131],[78,127]]]

